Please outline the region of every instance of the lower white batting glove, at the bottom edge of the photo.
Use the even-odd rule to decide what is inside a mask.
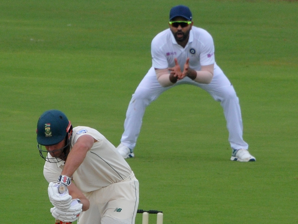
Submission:
[[[51,208],[52,216],[56,220],[62,222],[74,222],[78,219],[80,213],[82,212],[83,204],[79,203],[77,200],[72,200],[71,206],[67,211],[61,211],[59,208]]]

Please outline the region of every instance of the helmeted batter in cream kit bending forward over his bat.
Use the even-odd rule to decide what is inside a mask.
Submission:
[[[56,220],[135,223],[139,182],[111,142],[93,128],[72,128],[58,110],[40,116],[36,133],[40,155],[46,161],[44,177],[54,206],[50,211]],[[59,184],[68,191],[60,194]]]

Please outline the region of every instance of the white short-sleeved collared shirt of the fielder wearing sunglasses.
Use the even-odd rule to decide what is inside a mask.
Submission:
[[[189,40],[183,48],[177,44],[170,28],[157,34],[151,42],[152,66],[164,69],[174,67],[174,58],[177,58],[181,70],[189,57],[190,68],[201,70],[201,65],[214,64],[214,44],[212,36],[204,29],[192,27]]]

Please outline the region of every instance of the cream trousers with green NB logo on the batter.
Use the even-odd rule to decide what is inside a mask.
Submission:
[[[77,224],[135,224],[139,205],[139,181],[132,173],[121,182],[84,193],[90,202]]]

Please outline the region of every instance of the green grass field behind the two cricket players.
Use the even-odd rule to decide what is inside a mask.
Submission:
[[[119,144],[151,39],[181,3],[214,38],[257,161],[229,161],[218,102],[193,86],[170,89],[147,108],[128,160],[139,208],[162,210],[164,224],[298,223],[297,1],[12,0],[0,2],[1,224],[54,223],[36,148],[45,110]]]

